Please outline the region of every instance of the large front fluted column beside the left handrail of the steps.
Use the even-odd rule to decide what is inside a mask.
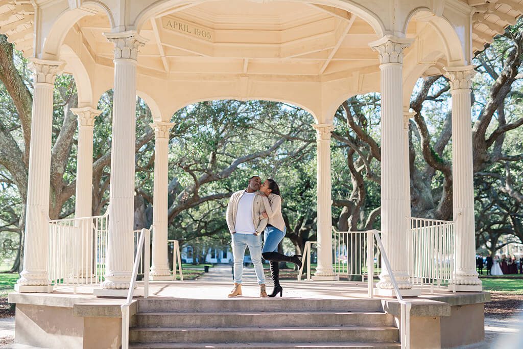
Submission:
[[[97,296],[125,296],[134,251],[134,148],[136,143],[136,74],[145,40],[132,31],[106,33],[115,44],[109,234],[105,280]]]

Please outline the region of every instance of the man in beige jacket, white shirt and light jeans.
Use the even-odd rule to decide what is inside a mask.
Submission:
[[[267,218],[261,216],[265,212],[263,198],[258,193],[261,178],[252,176],[247,189],[231,195],[225,219],[231,233],[231,246],[234,257],[234,288],[229,297],[242,295],[243,257],[245,247],[249,247],[254,271],[260,286],[260,297],[267,297],[265,275],[261,264],[261,232],[267,225]]]

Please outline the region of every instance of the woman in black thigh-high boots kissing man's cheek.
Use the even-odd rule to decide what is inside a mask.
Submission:
[[[278,253],[278,244],[283,237],[285,237],[285,222],[281,215],[281,196],[280,188],[274,179],[267,179],[261,185],[260,192],[264,194],[263,202],[266,212],[263,217],[268,218],[267,228],[264,232],[264,246],[261,250],[261,256],[269,261],[270,275],[274,282],[274,289],[269,297],[276,297],[279,293],[280,297],[283,293],[283,288],[280,286],[280,268],[278,262],[291,262],[301,268],[301,255],[295,254],[292,257]]]

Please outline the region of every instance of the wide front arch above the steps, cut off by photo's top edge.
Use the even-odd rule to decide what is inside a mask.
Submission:
[[[207,1],[220,1],[220,0],[207,0]],[[295,2],[294,0],[282,0]],[[141,10],[141,12],[134,18],[131,23],[131,27],[135,28],[137,31],[140,31],[144,22],[151,18],[152,16],[161,13],[163,10],[172,8],[173,6],[183,6],[190,5],[192,3],[203,3],[201,0],[158,0],[152,2],[149,6],[146,6]],[[369,25],[376,31],[379,36],[383,36],[385,33],[385,26],[382,19],[374,13],[371,9],[364,7],[361,4],[358,4],[353,0],[305,0],[303,3],[314,3],[317,5],[332,6],[336,8],[341,8],[347,10],[350,13],[354,13],[356,16],[367,21]]]

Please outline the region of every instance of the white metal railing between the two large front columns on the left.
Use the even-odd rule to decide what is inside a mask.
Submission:
[[[103,216],[49,220],[52,285],[100,284],[105,275],[109,209]]]

